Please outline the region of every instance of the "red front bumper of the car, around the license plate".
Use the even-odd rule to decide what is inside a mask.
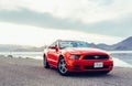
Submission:
[[[102,67],[95,67],[95,63],[101,62]],[[68,60],[66,65],[68,72],[102,72],[112,71],[112,60]]]

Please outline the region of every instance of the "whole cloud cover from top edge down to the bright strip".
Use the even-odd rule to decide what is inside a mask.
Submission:
[[[0,21],[131,36],[131,0],[0,0]]]

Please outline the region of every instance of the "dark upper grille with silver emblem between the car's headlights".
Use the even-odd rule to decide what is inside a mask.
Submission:
[[[108,60],[108,55],[85,55],[82,60]]]

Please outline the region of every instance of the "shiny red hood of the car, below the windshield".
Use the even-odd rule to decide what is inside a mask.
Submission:
[[[94,47],[67,47],[65,51],[72,54],[108,54],[106,51]]]

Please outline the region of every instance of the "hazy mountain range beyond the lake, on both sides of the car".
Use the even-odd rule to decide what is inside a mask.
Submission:
[[[100,44],[89,43],[89,46],[107,51],[132,51],[132,36],[113,45],[107,45],[103,43]],[[26,45],[0,44],[0,52],[43,52],[45,47],[46,45],[35,47]]]

